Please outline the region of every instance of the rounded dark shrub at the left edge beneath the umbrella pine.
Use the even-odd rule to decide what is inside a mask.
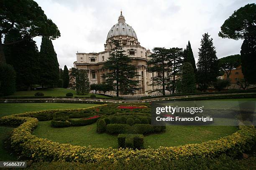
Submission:
[[[0,93],[4,96],[15,92],[15,70],[11,65],[0,62]]]

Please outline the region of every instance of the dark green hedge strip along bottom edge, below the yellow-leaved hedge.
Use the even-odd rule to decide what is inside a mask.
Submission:
[[[226,155],[218,158],[192,158],[191,160],[117,160],[114,163],[27,163],[27,170],[248,170],[255,169],[256,158],[237,160]]]

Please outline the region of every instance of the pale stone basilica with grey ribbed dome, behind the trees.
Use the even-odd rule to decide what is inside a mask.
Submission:
[[[103,82],[102,75],[106,70],[103,69],[104,63],[110,56],[110,50],[114,47],[112,40],[119,40],[120,45],[125,50],[126,55],[131,57],[131,64],[136,66],[136,71],[139,77],[140,90],[136,91],[136,95],[147,95],[148,91],[153,90],[150,84],[151,77],[154,73],[147,72],[148,56],[151,54],[150,50],[140,45],[135,30],[125,23],[125,18],[121,14],[118,18],[118,23],[113,25],[107,35],[105,50],[102,52],[83,53],[77,52],[77,61],[74,62],[74,67],[78,69],[88,70],[88,77],[91,84],[99,84]],[[115,92],[108,92],[114,95]],[[122,94],[122,92],[120,92]]]

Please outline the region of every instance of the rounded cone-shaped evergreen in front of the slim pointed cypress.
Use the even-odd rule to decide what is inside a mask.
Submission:
[[[196,78],[191,63],[184,62],[182,64],[180,79],[177,84],[178,92],[192,93],[196,91]]]

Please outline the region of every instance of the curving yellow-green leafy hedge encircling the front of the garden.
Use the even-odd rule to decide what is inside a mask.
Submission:
[[[148,160],[160,163],[163,160],[189,160],[192,158],[214,158],[220,154],[236,155],[250,150],[256,142],[254,126],[238,127],[238,131],[218,140],[209,140],[200,144],[188,144],[177,147],[159,147],[158,149],[113,149],[91,148],[61,144],[38,138],[31,132],[36,128],[38,120],[29,113],[10,115],[0,118],[0,124],[18,125],[10,137],[11,147],[16,152],[35,161],[67,161],[80,163],[102,163],[117,160]]]

